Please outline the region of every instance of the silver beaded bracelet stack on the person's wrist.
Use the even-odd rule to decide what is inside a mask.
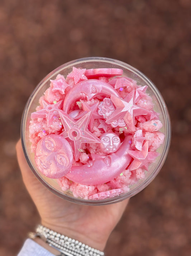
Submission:
[[[91,248],[75,239],[59,234],[45,226],[38,225],[36,233],[29,233],[29,237],[42,238],[49,246],[64,253],[66,256],[104,256],[104,252]]]

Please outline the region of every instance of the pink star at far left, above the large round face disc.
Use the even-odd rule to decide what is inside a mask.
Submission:
[[[42,104],[44,108],[37,112],[33,112],[31,114],[31,118],[46,118],[47,125],[49,126],[53,116],[57,116],[58,112],[62,108],[63,100],[60,100],[55,104],[48,104],[45,100],[42,100]]]

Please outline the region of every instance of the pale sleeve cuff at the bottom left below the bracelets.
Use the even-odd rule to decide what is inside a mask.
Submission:
[[[54,256],[51,252],[47,251],[44,247],[35,243],[32,239],[27,239],[18,256]]]

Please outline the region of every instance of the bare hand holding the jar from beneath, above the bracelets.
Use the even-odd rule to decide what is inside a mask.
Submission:
[[[106,206],[85,206],[66,201],[45,188],[34,176],[20,140],[16,152],[24,184],[37,207],[42,225],[103,251],[128,199]]]

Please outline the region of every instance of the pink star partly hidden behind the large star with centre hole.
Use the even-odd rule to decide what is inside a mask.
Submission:
[[[101,116],[97,113],[97,108],[98,108],[98,105],[100,102],[99,102],[99,100],[96,100],[96,102],[94,104],[92,104],[91,106],[88,105],[87,103],[85,103],[83,100],[80,100],[80,102],[82,104],[83,111],[91,112],[89,128],[90,128],[90,130],[92,130],[92,127],[94,125],[94,120],[101,118]]]

